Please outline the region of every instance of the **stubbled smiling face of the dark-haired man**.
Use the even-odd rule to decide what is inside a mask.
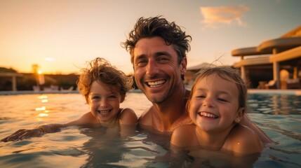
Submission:
[[[133,55],[135,82],[152,103],[163,102],[181,85],[186,64],[178,64],[173,45],[166,45],[163,38],[140,39]]]

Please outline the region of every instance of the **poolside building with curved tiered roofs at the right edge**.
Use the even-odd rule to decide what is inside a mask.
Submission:
[[[255,47],[232,50],[232,56],[241,57],[233,66],[250,87],[301,88],[301,26]]]

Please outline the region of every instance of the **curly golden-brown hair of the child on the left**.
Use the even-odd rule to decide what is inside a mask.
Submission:
[[[117,91],[121,97],[126,97],[126,92],[131,90],[133,81],[125,73],[116,69],[106,59],[97,57],[88,62],[86,69],[81,69],[77,87],[89,104],[88,94],[94,81],[104,83],[110,90]]]

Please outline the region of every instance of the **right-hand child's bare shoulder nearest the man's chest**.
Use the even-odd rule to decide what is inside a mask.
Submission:
[[[196,126],[195,125],[183,125],[176,128],[170,139],[170,143],[178,147],[188,147],[198,145],[194,139],[196,139]]]

